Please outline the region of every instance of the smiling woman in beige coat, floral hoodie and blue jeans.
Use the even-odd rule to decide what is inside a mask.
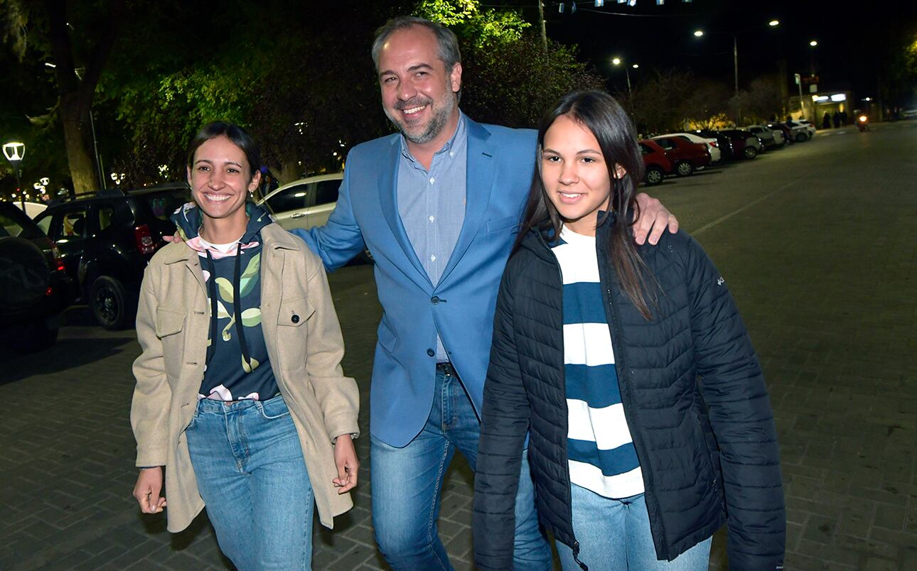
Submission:
[[[257,145],[215,123],[194,137],[197,209],[144,275],[131,424],[141,511],[180,532],[206,506],[240,569],[308,569],[357,484],[356,383],[321,261],[251,203]],[[198,220],[198,214],[200,220]]]

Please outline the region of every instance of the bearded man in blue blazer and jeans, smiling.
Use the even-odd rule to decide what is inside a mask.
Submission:
[[[476,465],[494,305],[536,132],[481,125],[458,110],[458,40],[445,27],[396,18],[377,32],[372,55],[400,132],[351,149],[327,224],[294,232],[328,269],[364,244],[372,254],[384,312],[370,391],[376,541],[395,569],[449,569],[438,497],[456,448]],[[677,227],[657,201],[641,200],[650,222],[660,219],[656,237]],[[523,472],[514,566],[550,569],[527,464]]]

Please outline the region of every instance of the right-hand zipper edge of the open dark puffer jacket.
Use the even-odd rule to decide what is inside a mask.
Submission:
[[[635,430],[638,428],[639,424],[635,423],[634,413],[631,412],[631,408],[628,404],[634,400],[634,384],[631,382],[630,372],[627,368],[627,348],[624,346],[624,330],[617,318],[617,306],[614,302],[614,293],[612,291],[614,270],[609,266],[608,262],[608,260],[611,259],[611,253],[605,252],[603,247],[605,242],[603,235],[607,232],[611,232],[611,225],[613,224],[615,224],[615,220],[609,220],[596,232],[595,247],[597,250],[596,254],[599,258],[599,281],[602,283],[602,297],[605,298],[605,307],[608,310],[606,318],[608,319],[609,333],[612,335],[614,365],[618,371],[618,384],[623,385],[620,388],[624,419],[627,421],[628,428],[631,429],[631,438],[634,440],[637,461],[640,463],[641,472],[643,473],[644,496],[650,499],[650,501],[646,501],[646,511],[649,512],[650,515],[650,531],[652,531],[652,523],[656,522],[660,531],[659,541],[661,542],[658,552],[668,558],[668,536],[666,534],[665,522],[663,522],[662,517],[659,515],[659,504],[657,503],[656,488],[653,482],[653,471],[650,469],[649,463],[646,462],[646,444],[643,441],[643,435],[640,431]],[[602,236],[600,236],[600,234]],[[650,511],[651,507],[652,511]]]

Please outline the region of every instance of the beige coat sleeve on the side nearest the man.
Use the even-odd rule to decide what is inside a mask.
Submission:
[[[328,279],[315,254],[309,251],[304,251],[304,254],[309,274],[309,304],[315,310],[306,323],[309,328],[306,373],[324,415],[328,438],[334,440],[341,434],[352,434],[356,438],[359,435],[359,390],[357,382],[345,377],[341,368],[344,337],[337,321]]]

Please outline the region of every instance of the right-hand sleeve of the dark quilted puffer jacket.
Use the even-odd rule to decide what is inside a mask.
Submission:
[[[731,569],[782,569],[786,511],[764,376],[722,275],[688,237],[685,258],[701,391],[723,468]]]

